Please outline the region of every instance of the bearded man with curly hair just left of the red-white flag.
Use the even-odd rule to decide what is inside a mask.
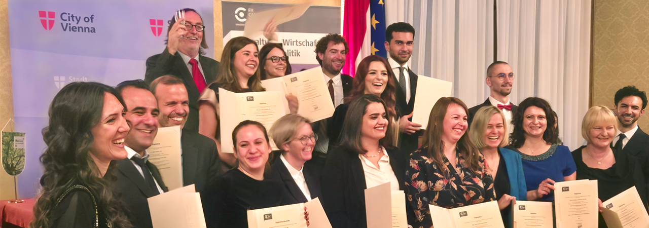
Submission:
[[[340,73],[345,66],[347,52],[349,52],[349,45],[339,34],[327,34],[315,45],[315,59],[323,67],[324,83],[329,89],[334,108],[343,104],[343,98],[349,96],[352,91],[354,78]],[[312,126],[313,132],[318,135],[314,150],[326,153],[329,144],[329,138],[326,136],[326,120],[315,122]]]

